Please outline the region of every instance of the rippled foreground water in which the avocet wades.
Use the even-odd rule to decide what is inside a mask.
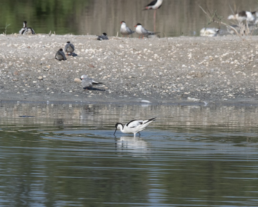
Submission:
[[[0,206],[257,206],[257,113],[1,103]],[[144,117],[140,136],[113,135]]]

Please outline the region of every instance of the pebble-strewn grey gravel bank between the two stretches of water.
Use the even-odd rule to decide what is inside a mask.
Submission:
[[[1,35],[0,100],[257,104],[258,36]],[[73,42],[66,61],[55,53]],[[104,83],[88,90],[79,78]],[[77,81],[75,79],[77,78]]]

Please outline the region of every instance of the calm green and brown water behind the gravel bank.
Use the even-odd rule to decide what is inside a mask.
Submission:
[[[2,0],[0,6],[0,32],[4,32],[6,24],[7,34],[18,33],[23,21],[28,22],[36,33],[56,34],[102,34],[108,36],[120,34],[120,22],[125,21],[133,29],[141,23],[149,31],[154,30],[154,11],[142,11],[151,0]],[[209,24],[209,19],[200,9],[206,6],[212,14],[217,12],[227,21],[233,12],[257,11],[255,0],[164,0],[157,11],[156,31],[164,36],[193,36],[199,35],[203,27],[219,27]],[[221,28],[221,34],[226,32]],[[133,37],[137,37],[136,34]]]

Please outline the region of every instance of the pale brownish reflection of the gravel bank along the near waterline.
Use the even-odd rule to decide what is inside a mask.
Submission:
[[[76,125],[77,128],[111,129],[115,131],[115,123],[125,123],[132,119],[156,117],[148,128],[166,130],[192,130],[195,127],[206,127],[207,130],[227,128],[228,130],[248,131],[257,129],[258,107],[249,106],[177,106],[177,105],[121,105],[113,104],[41,104],[41,103],[1,103],[2,117],[15,118],[10,122],[33,122],[34,124],[54,124],[58,127]],[[145,105],[144,105],[145,106]],[[229,114],[225,116],[225,114]],[[34,117],[18,117],[28,115]],[[239,118],[241,121],[239,122]],[[18,119],[18,120],[16,120]],[[216,120],[216,121],[214,121]],[[130,136],[128,136],[129,138]],[[130,137],[130,139],[132,139]]]

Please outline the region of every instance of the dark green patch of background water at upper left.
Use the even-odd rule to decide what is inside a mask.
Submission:
[[[52,30],[58,34],[66,34],[69,31],[74,31],[76,34],[77,20],[80,19],[88,3],[87,0],[2,0],[0,29],[3,31],[0,32],[4,32],[5,29],[5,25],[2,24],[8,22],[12,25],[8,28],[8,34],[18,33],[23,27],[23,21],[27,21],[28,27],[32,27],[36,33],[49,33]]]

